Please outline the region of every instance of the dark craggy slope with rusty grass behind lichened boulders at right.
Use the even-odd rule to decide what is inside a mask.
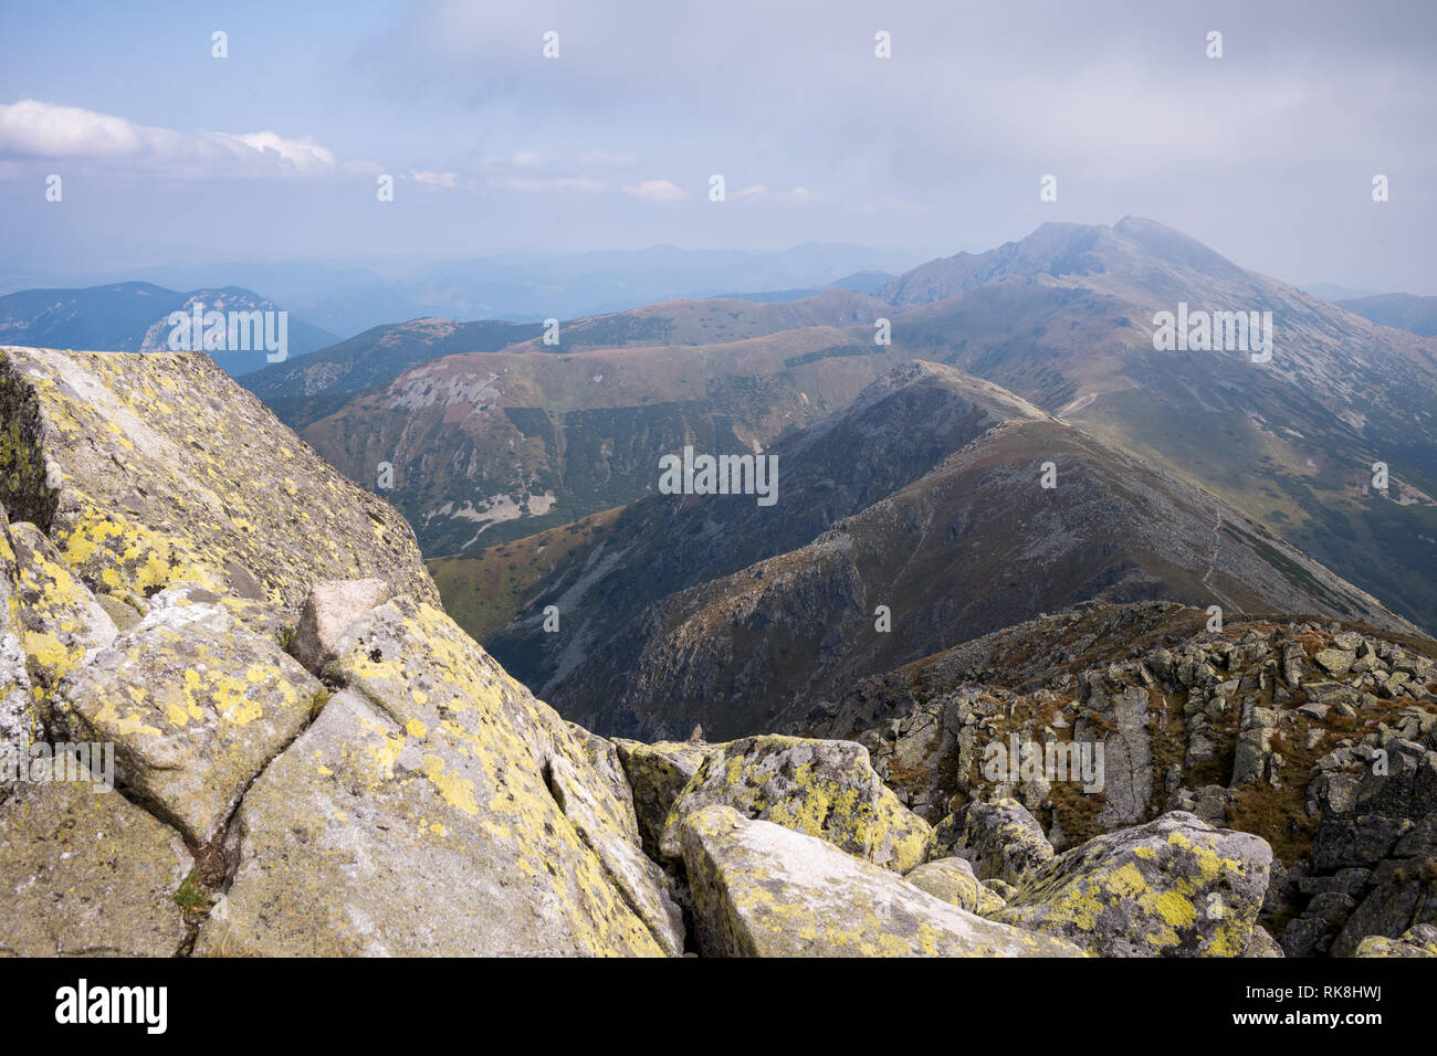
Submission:
[[[935,822],[934,853],[954,853],[961,812],[1003,797],[1058,849],[1183,810],[1273,846],[1262,921],[1288,955],[1349,955],[1427,920],[1437,649],[1311,619],[1206,622],[1078,605],[865,680],[795,726],[865,744]],[[990,767],[1015,746],[1032,767]],[[1098,749],[1101,774],[1049,772],[1045,753]]]

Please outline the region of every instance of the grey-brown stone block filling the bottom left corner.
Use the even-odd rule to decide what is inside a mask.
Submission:
[[[172,957],[184,944],[174,897],[194,863],[118,792],[23,783],[0,803],[0,955]]]

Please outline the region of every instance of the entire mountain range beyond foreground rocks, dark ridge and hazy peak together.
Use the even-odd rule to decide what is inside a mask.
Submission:
[[[422,318],[244,384],[405,514],[466,629],[601,728],[747,728],[756,701],[1092,598],[1437,626],[1430,338],[1135,217],[803,293]],[[1270,313],[1272,359],[1158,351],[1164,312]],[[685,445],[776,455],[780,504],[655,494]],[[892,631],[859,641],[878,605]],[[754,654],[802,612],[825,645]]]

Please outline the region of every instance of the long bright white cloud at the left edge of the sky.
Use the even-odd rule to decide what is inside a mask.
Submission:
[[[160,170],[177,178],[308,177],[366,168],[364,162],[341,165],[333,151],[310,136],[177,132],[39,99],[0,103],[0,157]]]

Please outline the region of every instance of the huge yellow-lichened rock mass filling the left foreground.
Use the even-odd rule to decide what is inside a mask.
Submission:
[[[116,783],[9,782],[23,951],[78,950],[73,907],[101,901],[125,920],[91,905],[89,945],[124,953],[684,951],[616,749],[458,631],[394,511],[204,356],[10,349],[0,402],[26,517],[0,553],[6,721],[112,746]],[[93,865],[45,835],[79,806],[114,839]]]

